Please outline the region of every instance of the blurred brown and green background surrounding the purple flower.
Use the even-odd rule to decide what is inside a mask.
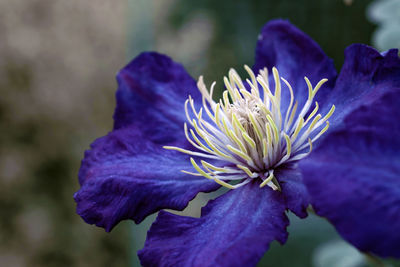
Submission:
[[[272,18],[309,34],[338,70],[352,43],[400,47],[400,0],[0,0],[0,266],[139,266],[155,216],[107,234],[72,198],[84,150],[112,129],[115,73],[156,50],[220,82],[252,65]],[[372,266],[323,219],[292,216],[288,230],[259,266]]]

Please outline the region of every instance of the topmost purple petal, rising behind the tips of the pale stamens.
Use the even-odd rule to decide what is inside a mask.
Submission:
[[[336,78],[333,61],[309,36],[286,20],[273,20],[267,23],[259,35],[256,48],[256,60],[253,69],[277,67],[279,74],[293,87],[299,106],[308,98],[307,76],[315,86],[321,79],[329,81],[316,95],[319,104],[323,104],[325,95],[331,90]],[[282,85],[282,106],[286,108],[290,100],[289,90]]]

